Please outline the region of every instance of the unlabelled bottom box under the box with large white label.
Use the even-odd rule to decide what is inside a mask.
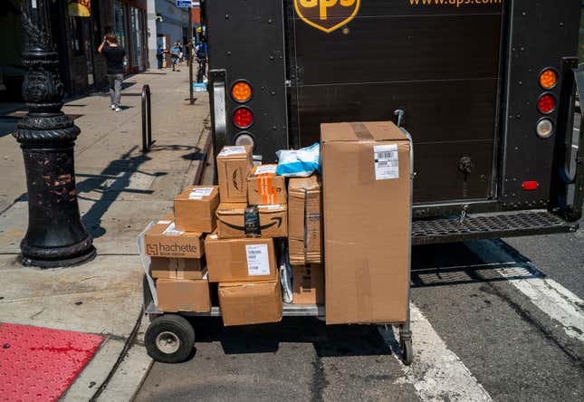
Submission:
[[[282,321],[280,282],[219,283],[219,304],[225,326]]]

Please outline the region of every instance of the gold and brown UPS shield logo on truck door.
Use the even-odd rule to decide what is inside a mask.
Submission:
[[[361,0],[294,0],[296,14],[302,21],[327,34],[349,23],[360,4]]]

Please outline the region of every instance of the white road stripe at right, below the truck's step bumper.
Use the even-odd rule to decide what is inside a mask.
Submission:
[[[481,243],[480,246],[470,243],[467,245],[471,249],[480,247],[481,250],[476,250],[479,255],[486,252],[505,262],[512,258],[492,243]],[[513,278],[509,283],[525,294],[552,320],[558,321],[570,338],[584,342],[584,302],[582,299],[561,286],[560,283],[545,277],[532,263],[529,263],[529,268],[528,270],[517,263],[514,266],[497,268],[495,272],[505,278]],[[522,270],[524,274],[518,275],[518,270]],[[525,276],[525,278],[523,279],[521,276]]]

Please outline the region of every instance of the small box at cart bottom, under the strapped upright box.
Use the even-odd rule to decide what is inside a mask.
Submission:
[[[292,265],[292,304],[324,304],[324,267]]]

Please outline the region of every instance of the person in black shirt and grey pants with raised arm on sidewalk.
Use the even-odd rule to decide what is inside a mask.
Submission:
[[[115,34],[106,34],[98,52],[105,57],[108,66],[107,74],[110,83],[111,110],[121,111],[121,82],[124,81],[124,62],[126,50],[118,44]]]

